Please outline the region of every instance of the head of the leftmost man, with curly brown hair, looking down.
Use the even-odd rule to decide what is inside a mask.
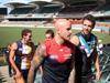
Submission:
[[[24,39],[25,41],[31,41],[32,38],[32,31],[29,29],[24,29],[22,30],[22,39]]]

